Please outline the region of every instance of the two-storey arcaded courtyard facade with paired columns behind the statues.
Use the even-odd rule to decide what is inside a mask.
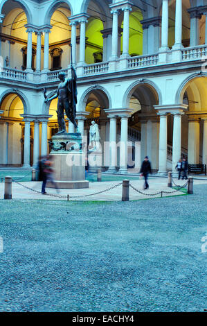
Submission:
[[[57,101],[43,89],[71,76],[71,58],[78,126],[88,137],[98,123],[102,166],[125,173],[145,155],[159,173],[180,157],[207,164],[206,15],[206,0],[1,0],[0,166],[48,153]]]

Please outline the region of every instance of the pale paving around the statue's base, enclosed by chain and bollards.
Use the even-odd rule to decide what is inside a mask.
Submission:
[[[163,194],[163,197],[165,196],[178,196],[183,195],[183,189],[181,191],[173,192],[175,189],[171,189],[167,187],[168,179],[167,178],[150,178],[149,184],[150,189],[143,190],[143,178],[139,178],[140,180],[136,180],[136,178],[128,175],[126,177],[130,180],[130,183],[138,190],[142,191],[143,194],[139,194],[138,192],[134,191],[134,189],[129,189],[129,199],[130,200],[137,200],[137,199],[143,199],[143,198],[150,198],[151,194],[156,194],[160,191],[166,191],[168,194]],[[186,180],[174,180],[177,185],[184,185],[186,184]],[[105,189],[109,189],[110,187],[114,187],[121,183],[121,180],[117,181],[109,181],[109,182],[90,182],[89,183],[89,189],[60,189],[60,196],[82,196],[82,195],[88,195],[88,194],[96,194],[99,191],[103,191]],[[42,182],[20,182],[21,185],[24,185],[26,187],[29,187],[30,189],[33,189],[35,191],[41,191]],[[207,184],[206,180],[195,180],[195,185],[203,185]],[[46,199],[46,200],[61,200],[62,198],[56,198],[48,195],[42,195],[37,194],[35,191],[26,189],[22,187],[21,185],[18,185],[16,182],[12,183],[12,198],[13,199]],[[3,190],[4,184],[0,183],[0,198],[3,198]],[[57,194],[55,189],[46,189],[47,194]],[[185,191],[184,191],[185,192]],[[86,197],[80,197],[75,198],[75,200],[107,200],[107,201],[114,201],[114,200],[121,200],[122,197],[122,185],[119,185],[118,187],[111,189],[109,191],[106,191],[102,194],[97,194],[93,196],[86,196]],[[154,198],[161,197],[161,194],[152,196]],[[73,200],[73,198],[71,198]]]

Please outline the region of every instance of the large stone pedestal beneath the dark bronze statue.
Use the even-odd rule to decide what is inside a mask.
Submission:
[[[54,162],[54,180],[61,189],[89,188],[85,180],[85,155],[80,133],[64,133],[52,137],[51,155]],[[48,182],[47,187],[53,187]]]

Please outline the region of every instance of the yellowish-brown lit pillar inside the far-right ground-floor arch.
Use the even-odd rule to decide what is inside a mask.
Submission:
[[[192,115],[188,119],[188,163],[199,164],[199,118]]]

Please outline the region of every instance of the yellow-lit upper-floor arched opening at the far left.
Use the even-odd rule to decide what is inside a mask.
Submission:
[[[3,66],[12,69],[26,68],[27,40],[25,25],[28,24],[28,13],[19,2],[6,1],[2,13],[5,15],[1,26],[1,55]],[[33,34],[33,44],[35,44]],[[35,69],[36,46],[33,46],[33,69]]]

